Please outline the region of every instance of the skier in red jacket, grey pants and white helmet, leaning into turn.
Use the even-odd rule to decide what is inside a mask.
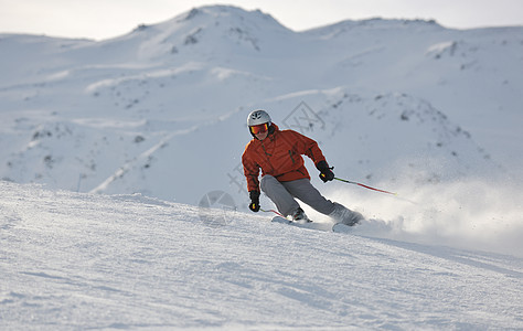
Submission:
[[[253,212],[259,211],[259,195],[263,191],[278,211],[284,216],[291,215],[292,221],[309,222],[296,199],[338,223],[352,226],[363,220],[360,213],[323,197],[310,183],[302,154],[314,162],[323,182],[334,179],[333,168],[329,168],[314,140],[293,130],[280,130],[265,110],[252,111],[247,117],[247,126],[253,139],[245,147],[242,163],[250,197],[249,209]]]

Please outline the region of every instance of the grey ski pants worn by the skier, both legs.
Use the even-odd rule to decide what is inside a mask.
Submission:
[[[262,191],[276,204],[278,211],[285,216],[292,215],[300,207],[295,197],[322,214],[329,215],[334,211],[334,203],[323,197],[312,186],[309,179],[279,182],[273,175],[266,174],[262,178],[259,185]]]

